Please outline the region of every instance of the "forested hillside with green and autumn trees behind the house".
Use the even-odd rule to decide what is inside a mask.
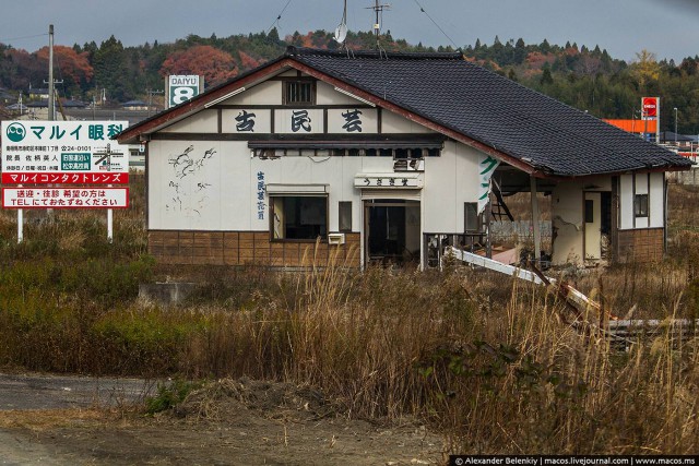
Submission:
[[[374,48],[375,44],[369,33],[350,33],[347,37],[353,49]],[[99,45],[56,46],[56,79],[63,81],[59,92],[66,97],[92,100],[104,88],[112,103],[145,99],[147,89],[163,88],[168,74],[200,74],[209,87],[277,57],[287,45],[337,47],[332,33],[324,31],[295,33],[283,39],[276,29],[222,38],[190,35],[173,44],[155,41],[138,47],[123,47],[112,36]],[[401,51],[453,50],[411,45],[390,34],[382,37],[381,45]],[[521,38],[502,43],[498,37],[490,45],[476,40],[462,51],[469,60],[600,118],[639,118],[640,97],[660,96],[665,109],[661,113],[663,129],[674,130],[672,109],[677,107],[678,132],[699,133],[699,56],[675,63],[640,50],[627,63],[599,46],[558,46],[546,40],[526,45]],[[47,47],[27,52],[0,44],[0,87],[25,93],[29,85],[45,87],[47,68]]]

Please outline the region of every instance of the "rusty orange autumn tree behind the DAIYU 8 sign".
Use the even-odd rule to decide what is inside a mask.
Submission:
[[[161,67],[161,75],[170,74],[198,74],[204,76],[206,86],[213,86],[234,77],[238,68],[230,53],[212,46],[194,46],[167,57]]]

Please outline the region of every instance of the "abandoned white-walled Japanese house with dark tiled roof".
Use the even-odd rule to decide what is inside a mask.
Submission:
[[[691,166],[460,53],[289,47],[118,140],[146,145],[149,251],[171,264],[431,266],[487,246],[522,191],[552,196],[553,263],[652,261],[665,175]]]

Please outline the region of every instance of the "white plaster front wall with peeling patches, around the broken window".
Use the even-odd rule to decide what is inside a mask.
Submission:
[[[191,158],[199,168],[183,177],[175,160]],[[215,153],[203,159],[206,150]],[[258,172],[264,182],[328,184],[329,228],[337,230],[339,202],[352,201],[353,230],[362,224],[360,191],[354,176],[365,171],[365,157],[250,157],[247,142],[153,141],[149,144],[149,228],[192,230],[269,230],[269,198],[264,219],[258,218]],[[376,157],[378,158],[378,157]],[[389,159],[390,162],[390,159]],[[177,187],[170,184],[175,183]],[[201,186],[200,186],[201,183]]]

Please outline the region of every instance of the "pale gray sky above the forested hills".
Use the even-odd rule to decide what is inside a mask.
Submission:
[[[0,43],[35,51],[48,44],[72,46],[114,34],[125,46],[174,41],[188,34],[225,37],[268,31],[288,0],[2,0]],[[369,31],[374,0],[347,0],[351,31]],[[383,31],[411,44],[493,44],[522,37],[606,48],[614,58],[635,59],[645,48],[657,59],[699,53],[699,0],[386,0]],[[426,13],[420,12],[422,5]],[[342,0],[291,0],[280,35],[333,31]],[[434,20],[434,22],[430,20]],[[437,25],[435,25],[437,23]],[[440,29],[443,29],[446,37]],[[38,37],[28,37],[38,36]]]

